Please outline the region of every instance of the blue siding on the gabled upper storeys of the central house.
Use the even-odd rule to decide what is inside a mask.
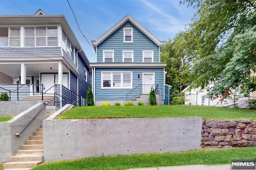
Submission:
[[[124,28],[133,28],[133,43],[124,43]],[[154,62],[159,62],[159,46],[130,22],[126,22],[97,46],[98,63],[103,62],[103,50],[114,50],[114,62],[122,62],[122,50],[133,50],[134,62],[142,62],[143,50],[154,50]]]

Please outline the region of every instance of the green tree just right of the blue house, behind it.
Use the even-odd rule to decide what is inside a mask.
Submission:
[[[186,34],[180,32],[172,41],[164,43],[160,55],[161,62],[166,62],[166,83],[172,85],[171,94],[180,94],[190,83],[190,55],[186,51]]]

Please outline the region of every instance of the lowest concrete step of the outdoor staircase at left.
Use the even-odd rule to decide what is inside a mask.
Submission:
[[[7,162],[4,163],[4,169],[10,168],[32,168],[42,163],[42,161],[31,161],[31,162]]]

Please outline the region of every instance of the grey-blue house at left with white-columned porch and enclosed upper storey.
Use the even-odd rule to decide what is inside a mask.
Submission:
[[[62,107],[81,105],[89,87],[88,58],[64,15],[0,16],[0,94],[51,94]]]

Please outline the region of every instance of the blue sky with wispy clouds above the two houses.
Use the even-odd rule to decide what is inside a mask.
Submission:
[[[91,44],[126,14],[161,41],[185,30],[196,10],[180,0],[68,0],[82,33]],[[96,53],[82,36],[67,0],[0,0],[0,15],[33,15],[38,9],[64,15],[90,62]],[[92,45],[92,44],[91,44]]]

